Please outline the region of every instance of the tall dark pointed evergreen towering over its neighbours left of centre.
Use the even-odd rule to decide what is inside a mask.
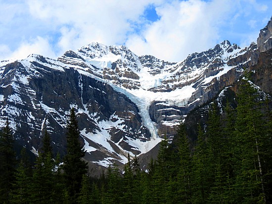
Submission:
[[[80,144],[80,132],[73,108],[70,112],[67,129],[67,155],[64,157],[63,170],[69,196],[72,203],[76,203],[81,188],[82,176],[87,173],[88,166],[82,160],[85,156],[85,150]]]

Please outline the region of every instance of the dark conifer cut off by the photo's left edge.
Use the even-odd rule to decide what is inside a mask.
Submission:
[[[10,201],[10,191],[17,163],[13,143],[14,138],[7,119],[5,127],[0,131],[0,203]]]

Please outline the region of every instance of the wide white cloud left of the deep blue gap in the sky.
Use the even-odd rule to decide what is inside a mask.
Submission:
[[[146,6],[160,0],[29,0],[32,16],[59,29],[60,50],[76,49],[92,41],[121,44]]]

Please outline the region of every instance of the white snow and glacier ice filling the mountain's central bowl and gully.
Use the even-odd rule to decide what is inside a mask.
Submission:
[[[225,42],[224,46],[227,47],[228,44],[226,44],[226,43],[227,42]],[[96,50],[94,48],[94,46],[98,46],[98,48],[100,50]],[[111,46],[111,47],[121,50],[121,51],[122,51],[122,49],[124,49],[123,46]],[[228,48],[229,47],[227,47],[226,49],[224,48],[223,54],[220,53],[221,55],[219,55],[215,58],[219,58],[224,61],[224,59],[227,59],[227,57],[229,57],[230,55],[234,55],[235,53],[238,53],[240,51],[240,49],[233,49],[232,52],[227,53]],[[91,43],[89,45],[82,47],[82,49],[84,49],[87,52],[87,54],[84,54],[80,50],[77,51],[77,54],[86,60],[86,62],[84,62],[84,63],[86,63],[86,65],[88,65],[88,66],[93,65],[96,68],[98,68],[98,70],[95,70],[95,71],[101,75],[102,75],[104,68],[111,68],[112,67],[113,62],[116,62],[118,60],[121,60],[122,62],[129,61],[125,57],[124,53],[119,53],[119,52],[113,53],[109,50],[108,46],[102,45],[99,43]],[[90,53],[93,53],[93,55],[90,55]],[[129,53],[129,54],[131,54],[131,53]],[[149,107],[151,105],[151,102],[163,101],[162,103],[166,104],[167,106],[180,106],[181,107],[181,106],[185,106],[185,105],[190,105],[190,104],[200,100],[200,98],[198,98],[194,102],[188,104],[189,99],[191,98],[193,93],[196,91],[196,88],[193,87],[194,84],[189,84],[189,85],[183,86],[181,88],[176,88],[175,90],[173,90],[171,92],[152,92],[152,91],[148,91],[148,89],[156,88],[156,87],[159,87],[161,85],[166,85],[166,84],[169,85],[170,87],[172,87],[172,85],[176,85],[176,84],[179,85],[179,84],[182,84],[182,82],[187,82],[188,79],[193,80],[193,79],[201,76],[210,64],[209,63],[205,64],[199,68],[196,68],[196,66],[184,68],[184,63],[186,60],[185,59],[179,63],[165,67],[162,70],[162,73],[160,73],[160,74],[152,75],[149,73],[150,69],[147,66],[142,67],[142,65],[139,62],[138,56],[136,56],[133,52],[132,52],[132,56],[136,57],[136,62],[133,62],[134,63],[133,65],[136,64],[137,67],[139,68],[139,69],[132,68],[132,70],[135,71],[135,73],[139,76],[139,80],[133,80],[133,79],[129,79],[129,80],[139,82],[139,84],[140,84],[139,89],[128,89],[128,88],[125,88],[121,85],[113,84],[111,81],[104,80],[104,79],[101,79],[93,74],[90,74],[88,72],[91,69],[90,67],[81,67],[80,64],[77,65],[76,63],[70,66],[70,65],[62,63],[60,61],[46,58],[46,61],[49,62],[49,64],[47,64],[47,63],[41,62],[37,58],[38,55],[31,55],[27,59],[21,60],[19,62],[21,64],[23,64],[23,66],[26,67],[26,69],[28,70],[29,73],[32,73],[32,75],[30,74],[30,76],[32,76],[32,77],[33,76],[36,76],[36,77],[41,76],[39,69],[43,70],[45,72],[49,72],[48,70],[44,70],[42,68],[37,69],[33,64],[31,64],[31,62],[38,60],[38,63],[40,63],[41,65],[44,65],[48,68],[59,70],[59,71],[64,71],[64,69],[69,69],[67,66],[73,67],[80,73],[80,77],[81,77],[81,74],[84,74],[88,77],[94,78],[95,80],[98,80],[101,82],[106,82],[109,85],[111,85],[115,91],[124,93],[126,96],[128,96],[130,98],[131,101],[133,101],[137,105],[137,107],[139,109],[139,115],[141,116],[141,120],[142,120],[144,126],[147,127],[151,133],[151,138],[150,138],[151,140],[150,141],[142,142],[140,139],[133,140],[133,139],[129,138],[127,142],[129,143],[129,145],[132,145],[137,150],[139,150],[141,153],[146,153],[161,141],[161,138],[158,137],[158,130],[156,128],[156,124],[154,122],[152,122],[150,115],[149,115]],[[209,60],[210,60],[210,58],[209,58]],[[76,59],[74,61],[77,62],[80,60]],[[128,65],[128,68],[131,68],[131,67]],[[228,67],[227,64],[225,64],[223,66],[223,70],[221,70],[217,75],[208,77],[204,80],[201,79],[203,81],[200,84],[201,85],[207,84],[207,83],[211,82],[214,78],[219,79],[223,74],[226,74],[232,68],[233,67]],[[185,73],[186,70],[184,71],[181,69],[184,69],[184,70],[187,69],[188,72]],[[171,71],[173,71],[173,72],[171,72]],[[179,72],[181,72],[181,74],[175,76]],[[166,82],[167,80],[170,80],[170,79],[172,79],[173,82]],[[28,76],[20,76],[17,79],[17,81],[27,84],[28,83]],[[79,87],[81,88],[81,90],[83,90],[83,86],[82,86],[81,81],[82,80],[79,80],[79,82],[80,82]],[[12,84],[12,85],[14,85],[14,87],[13,87],[14,89],[17,88],[15,86],[16,84]],[[81,96],[81,100],[82,100],[82,96]],[[82,100],[82,102],[83,102],[83,100]],[[43,104],[42,101],[40,101],[40,105],[41,105],[41,108],[47,114],[51,114],[51,115],[55,114],[57,117],[64,119],[63,116],[61,116],[58,111],[46,106],[45,104]],[[80,111],[82,111],[82,112],[87,111],[86,104],[83,104],[83,105],[85,107],[85,110],[79,110],[79,112]],[[89,117],[91,117],[88,113],[86,113],[86,114]],[[171,116],[169,116],[169,117],[171,117]],[[173,115],[172,117],[175,117],[175,116]],[[54,118],[54,119],[56,120],[56,122],[58,122],[57,118]],[[109,134],[109,131],[107,130],[107,128],[111,128],[114,125],[117,125],[118,123],[112,123],[111,121],[99,121],[98,122],[98,120],[96,120],[96,119],[95,119],[95,116],[92,117],[92,120],[94,120],[96,122],[96,124],[99,126],[100,131],[97,131],[94,133],[87,132],[86,129],[81,131],[81,134],[84,136],[83,138],[85,141],[85,149],[88,152],[92,152],[92,151],[96,150],[95,148],[89,146],[89,143],[86,140],[86,138],[89,138],[93,142],[103,146],[107,151],[115,153],[109,143],[111,135]],[[119,119],[118,122],[120,123],[120,122],[122,122],[122,120]],[[163,124],[172,127],[173,125],[177,125],[179,122],[180,122],[180,120],[173,120],[171,122],[163,121]],[[63,124],[60,124],[60,125],[63,126]],[[118,127],[120,129],[123,128],[122,126],[118,126]],[[119,146],[118,144],[119,143],[116,143],[117,146]],[[123,150],[120,146],[119,146],[119,148],[121,150]],[[106,158],[105,160],[100,161],[100,163],[105,164],[105,163],[109,162],[111,159],[112,158]],[[120,162],[124,163],[124,162],[126,162],[126,160],[127,160],[126,157],[123,158],[123,156],[121,156]]]

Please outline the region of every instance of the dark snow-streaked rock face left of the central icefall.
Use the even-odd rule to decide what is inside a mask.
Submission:
[[[134,154],[141,153],[128,140],[144,142],[150,140],[151,135],[142,125],[135,103],[107,83],[80,74],[73,68],[59,66],[59,69],[51,69],[47,66],[44,57],[33,55],[2,68],[1,116],[8,115],[12,120],[16,139],[33,150],[39,150],[42,132],[47,125],[54,151],[64,154],[65,125],[69,110],[75,107],[79,129],[85,135],[82,142],[86,149],[91,143],[97,149],[96,154],[103,152],[119,160],[120,148]],[[109,152],[103,143],[90,141],[87,133],[99,135],[101,131],[108,133],[105,143],[112,141],[110,145],[118,153]]]

